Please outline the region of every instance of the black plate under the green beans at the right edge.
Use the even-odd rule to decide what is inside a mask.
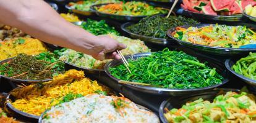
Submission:
[[[246,57],[246,56],[245,56],[245,57]],[[239,77],[240,79],[242,79],[242,81],[246,82],[247,84],[256,86],[256,80],[250,79],[250,78],[248,78],[248,77],[245,77],[245,76],[243,76],[242,74],[238,74],[238,73],[236,73],[236,72],[232,69],[232,66],[237,62],[237,60],[239,60],[239,59],[241,59],[241,58],[243,58],[243,57],[232,58],[232,59],[226,60],[226,61],[225,61],[225,66],[226,66],[226,68],[227,68],[231,73],[233,73],[234,75],[236,75],[237,77]]]

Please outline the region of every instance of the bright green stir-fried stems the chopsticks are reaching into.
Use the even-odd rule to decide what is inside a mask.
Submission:
[[[124,65],[109,68],[110,73],[124,81],[170,89],[195,89],[223,81],[215,68],[210,68],[207,63],[200,63],[197,58],[184,52],[164,49],[148,57],[129,59],[128,62],[132,73],[128,73]]]

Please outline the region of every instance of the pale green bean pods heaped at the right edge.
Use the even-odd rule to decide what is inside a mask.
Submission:
[[[247,57],[238,60],[232,69],[238,74],[256,80],[256,53],[250,52]]]

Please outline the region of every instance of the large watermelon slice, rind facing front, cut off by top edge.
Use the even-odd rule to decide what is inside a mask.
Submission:
[[[210,0],[211,6],[214,10],[229,10],[229,6],[231,6],[236,0]]]

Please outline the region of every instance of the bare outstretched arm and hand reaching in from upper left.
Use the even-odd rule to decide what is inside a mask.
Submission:
[[[43,0],[0,0],[0,22],[98,60],[119,58],[115,50],[126,47],[108,36],[94,36],[67,22]]]

